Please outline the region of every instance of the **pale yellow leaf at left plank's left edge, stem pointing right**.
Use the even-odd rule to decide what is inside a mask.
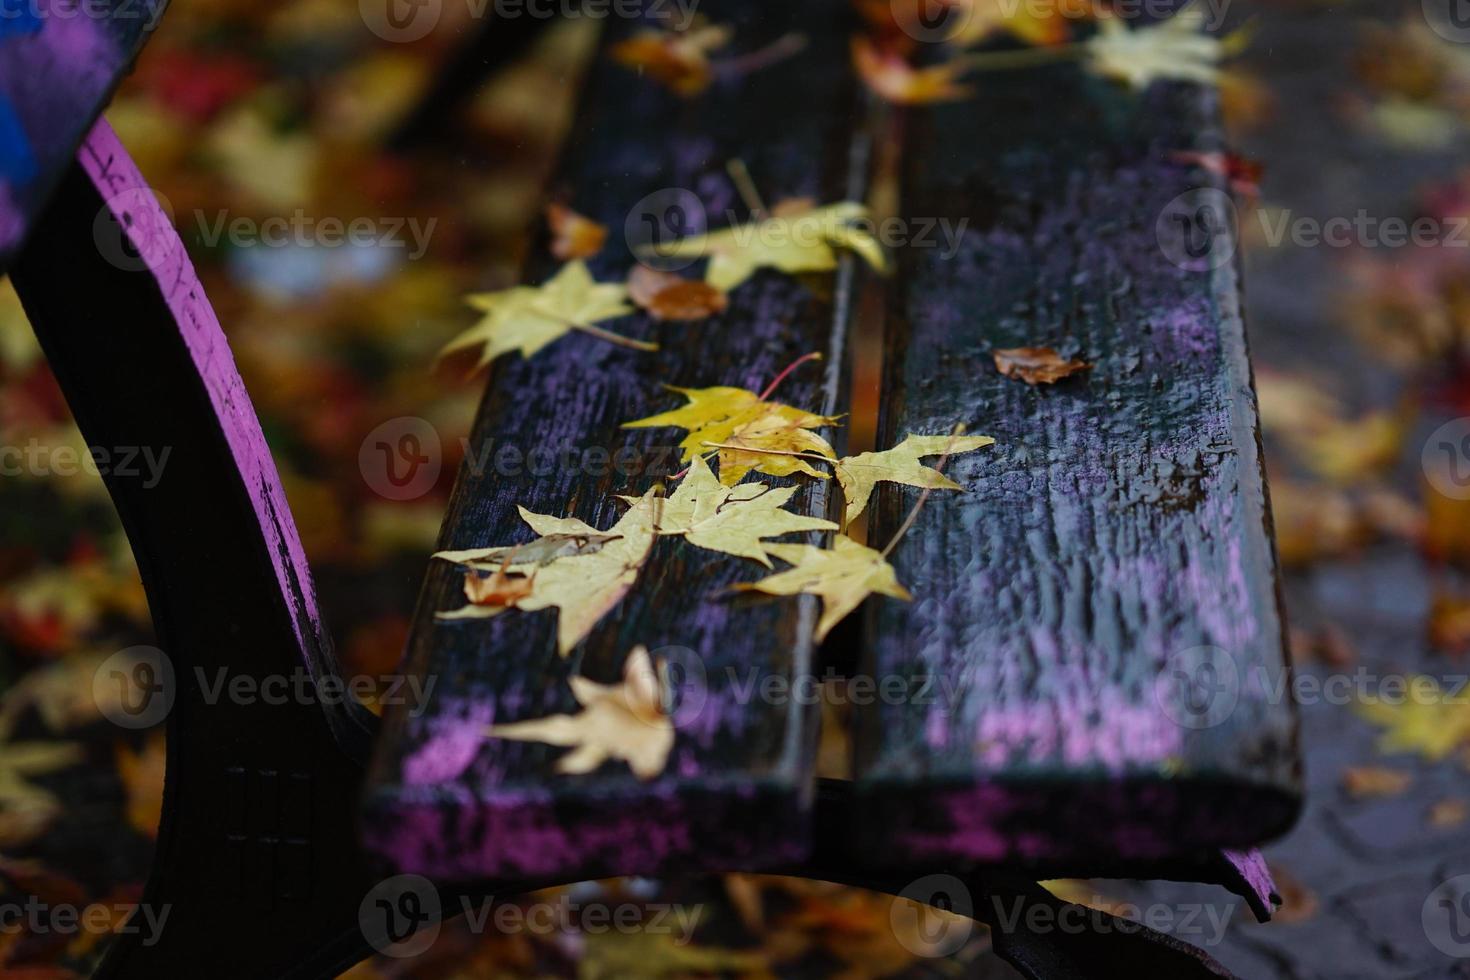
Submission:
[[[628,289],[620,282],[597,282],[585,262],[569,262],[539,287],[514,287],[500,292],[476,292],[465,301],[484,313],[479,323],[450,341],[440,359],[481,348],[476,370],[501,354],[519,350],[531,357],[570,331],[584,331],[622,347],[657,350],[657,344],[635,341],[595,326],[600,320],[628,316]]]

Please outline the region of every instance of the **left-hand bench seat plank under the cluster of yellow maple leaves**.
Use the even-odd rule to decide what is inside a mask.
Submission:
[[[554,197],[613,229],[592,262],[601,279],[628,273],[634,256],[625,223],[639,226],[645,213],[662,217],[681,200],[669,188],[697,198],[713,228],[726,225],[732,210],[744,220],[725,169],[732,159],[748,165],[770,203],[854,195],[848,185],[861,160],[854,163],[857,93],[839,29],[845,3],[726,0],[700,12],[735,26],[735,57],[791,32],[806,35],[808,46],[759,71],[717,73],[706,94],[685,100],[613,65],[609,44],[639,25],[607,25],[553,188]],[[694,216],[689,231],[698,225]],[[538,247],[528,281],[542,281],[553,267]],[[488,463],[460,473],[441,547],[529,539],[517,505],[610,526],[622,513],[614,494],[641,494],[681,469],[667,451],[681,430],[619,428],[675,407],[679,400],[664,383],[760,391],[789,361],[817,350],[825,361],[797,372],[781,400],[841,413],[847,300],[856,275],[851,260],[835,279],[760,272],[711,320],[654,328],[638,316],[606,325],[657,336],[663,347],[656,354],[572,335],[529,360],[503,360],[470,438],[470,455]],[[559,463],[512,472],[494,461],[506,447],[516,451],[506,458],[550,453]],[[607,464],[609,457],[628,458],[619,453],[626,448],[651,466],[638,472]],[[829,485],[811,483],[792,508],[823,514]],[[369,846],[398,868],[440,880],[578,879],[800,860],[808,842],[803,814],[813,792],[816,717],[792,698],[763,702],[745,685],[789,685],[810,670],[816,604],[728,597],[731,583],[760,573],[754,563],[664,538],[628,598],[563,660],[554,646],[554,611],[435,623],[437,611],[463,604],[463,574],[432,563],[407,663],[438,686],[420,717],[400,713],[387,720],[366,802]],[[622,763],[562,776],[556,764],[566,749],[485,736],[491,723],[576,711],[569,677],[616,682],[639,644],[654,654],[679,648],[675,660],[697,663],[704,674],[703,708],[676,716],[673,754],[659,779],[638,782]]]

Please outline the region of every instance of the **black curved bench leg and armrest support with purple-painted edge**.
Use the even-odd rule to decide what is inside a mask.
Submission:
[[[168,716],[168,783],[140,909],[160,930],[135,920],[100,976],[332,976],[365,951],[370,716],[295,693],[332,671],[295,529],[182,242],[106,123],[13,279],[88,445],[165,460],[156,485],[107,475],[163,651],[116,679],[140,682],[140,726]]]

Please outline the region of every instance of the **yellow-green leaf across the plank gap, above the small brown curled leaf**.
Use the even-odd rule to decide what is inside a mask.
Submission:
[[[710,267],[706,281],[729,292],[750,279],[757,269],[831,272],[836,269],[836,248],[848,248],[879,272],[888,269],[883,247],[870,231],[872,217],[863,204],[842,201],[804,213],[770,216],[754,225],[681,238],[662,245],[645,245],[639,254],[662,259],[704,259]]]

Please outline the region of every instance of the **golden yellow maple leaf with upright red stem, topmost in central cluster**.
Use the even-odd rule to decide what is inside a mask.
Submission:
[[[744,388],[673,388],[689,404],[673,411],[625,422],[625,429],[676,426],[689,435],[679,442],[684,461],[719,453],[720,482],[734,486],[751,470],[770,476],[806,473],[826,479],[808,457],[836,458],[826,439],[811,432],[833,425],[836,419],[792,408],[776,401],[761,401]],[[719,447],[716,450],[716,447]],[[748,453],[742,450],[751,450]]]

